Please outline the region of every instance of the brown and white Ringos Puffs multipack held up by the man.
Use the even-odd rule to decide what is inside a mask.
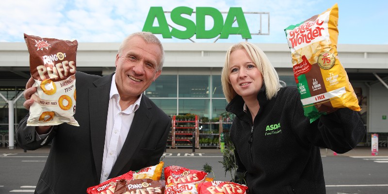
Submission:
[[[30,53],[30,72],[36,87],[27,126],[68,123],[79,126],[76,111],[77,40],[41,38],[24,34]]]

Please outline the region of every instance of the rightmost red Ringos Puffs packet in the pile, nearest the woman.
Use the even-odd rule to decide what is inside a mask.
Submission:
[[[211,181],[198,184],[198,194],[246,194],[247,186],[234,182]]]

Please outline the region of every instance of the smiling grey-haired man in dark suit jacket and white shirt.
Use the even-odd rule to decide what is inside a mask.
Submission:
[[[171,118],[143,92],[162,72],[164,51],[149,32],[127,37],[116,55],[116,71],[100,77],[76,73],[80,127],[26,126],[16,130],[17,144],[28,150],[51,142],[36,194],[86,193],[88,187],[146,166],[156,165],[166,146]],[[34,103],[31,78],[24,107]],[[32,138],[26,138],[32,137]]]

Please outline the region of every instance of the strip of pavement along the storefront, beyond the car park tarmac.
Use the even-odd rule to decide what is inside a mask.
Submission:
[[[21,153],[49,153],[50,146],[45,146],[37,150],[23,150],[20,147],[9,149],[7,147],[0,147],[0,154],[21,154]],[[167,148],[165,153],[192,153],[193,149],[187,148]],[[218,148],[202,148],[195,149],[195,153],[221,153]],[[334,153],[330,149],[321,148],[322,156],[334,156]],[[337,156],[372,156],[370,146],[356,146],[356,148],[344,153],[338,154]],[[388,147],[379,147],[377,156],[388,157]]]

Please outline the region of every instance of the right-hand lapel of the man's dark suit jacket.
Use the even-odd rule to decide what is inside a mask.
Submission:
[[[146,130],[149,130],[148,125],[150,123],[152,114],[149,110],[151,105],[147,100],[148,99],[143,95],[139,109],[135,112],[135,116],[133,117],[127,139],[125,140],[123,148],[121,149],[121,152],[113,165],[111,174],[109,176],[110,178],[120,176],[118,173],[125,167],[128,162],[130,162],[141,140],[143,139]]]

